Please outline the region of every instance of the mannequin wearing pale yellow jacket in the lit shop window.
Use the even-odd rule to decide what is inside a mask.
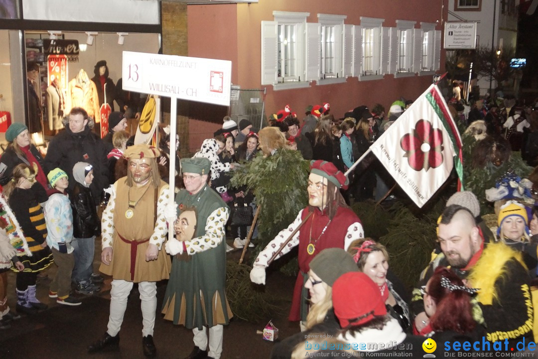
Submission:
[[[99,122],[99,97],[95,83],[90,81],[88,74],[81,69],[76,77],[69,81],[67,85],[66,109],[68,114],[72,108],[81,107],[93,118]]]

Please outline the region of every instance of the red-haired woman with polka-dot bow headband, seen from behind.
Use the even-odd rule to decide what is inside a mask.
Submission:
[[[477,290],[466,287],[456,273],[438,267],[421,291],[428,320],[420,332],[413,327],[414,334],[432,337],[437,343],[456,335],[483,336],[484,330],[473,320],[471,310],[471,295]]]

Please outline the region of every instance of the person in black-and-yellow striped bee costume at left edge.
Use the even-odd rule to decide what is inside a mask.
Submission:
[[[9,234],[21,228],[31,252],[31,256],[27,251],[17,252],[12,268],[17,272],[17,312],[24,314],[36,314],[39,309],[47,308],[36,298],[36,280],[37,274],[53,263],[52,252],[45,241],[47,227],[40,205],[48,196],[42,186],[36,185],[36,172],[35,166],[17,165],[13,168],[12,180],[4,187],[4,195],[16,218],[15,223],[6,226],[6,231]]]

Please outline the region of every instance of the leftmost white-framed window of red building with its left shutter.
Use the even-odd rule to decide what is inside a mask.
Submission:
[[[305,29],[309,15],[308,12],[273,11],[274,21],[261,22],[261,85],[307,86]]]

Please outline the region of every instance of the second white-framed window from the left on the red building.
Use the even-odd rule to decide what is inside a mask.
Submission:
[[[321,79],[343,76],[343,25],[345,15],[318,13],[320,23],[320,76]]]

